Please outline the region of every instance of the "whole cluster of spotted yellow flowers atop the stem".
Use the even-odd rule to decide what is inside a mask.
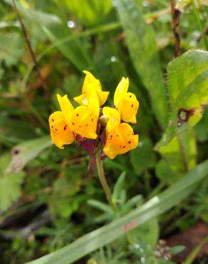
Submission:
[[[115,106],[100,108],[109,92],[102,91],[100,81],[90,72],[83,72],[86,76],[82,93],[74,98],[80,106],[73,108],[67,95],[57,95],[61,111],[53,112],[48,120],[53,143],[63,148],[63,145],[73,143],[78,136],[94,140],[97,146],[101,141],[103,152],[112,159],[136,148],[138,135],[134,135],[128,122],[136,123],[139,102],[133,93],[128,93],[128,78],[123,77],[115,90]],[[98,125],[103,127],[101,131],[105,131],[104,142]]]

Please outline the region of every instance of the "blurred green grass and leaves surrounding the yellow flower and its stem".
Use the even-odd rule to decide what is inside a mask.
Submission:
[[[167,0],[15,3],[0,2],[0,262],[69,244],[34,264],[207,263],[206,1],[176,1],[172,14]],[[116,215],[87,153],[48,136],[56,93],[78,95],[84,69],[108,103],[122,76],[140,101],[139,147],[104,162]]]

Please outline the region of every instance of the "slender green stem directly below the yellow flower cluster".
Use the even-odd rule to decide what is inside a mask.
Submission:
[[[103,169],[103,161],[100,160],[100,151],[98,151],[96,153],[96,163],[97,163],[97,168],[98,168],[98,177],[99,177],[100,183],[103,187],[103,190],[105,192],[105,196],[106,196],[108,202],[110,203],[110,206],[116,212],[117,206],[115,205],[115,203],[113,203],[110,188],[109,188],[108,183],[107,183],[106,178],[105,178],[105,173],[104,173],[104,169]]]

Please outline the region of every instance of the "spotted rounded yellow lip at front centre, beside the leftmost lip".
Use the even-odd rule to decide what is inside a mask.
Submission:
[[[88,106],[78,106],[71,116],[70,128],[83,138],[97,138],[98,117]]]

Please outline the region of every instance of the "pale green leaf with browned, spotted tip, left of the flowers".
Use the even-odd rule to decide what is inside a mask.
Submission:
[[[50,136],[24,141],[15,146],[11,153],[11,163],[9,164],[8,171],[21,171],[28,161],[36,158],[41,151],[49,146],[52,146]]]

